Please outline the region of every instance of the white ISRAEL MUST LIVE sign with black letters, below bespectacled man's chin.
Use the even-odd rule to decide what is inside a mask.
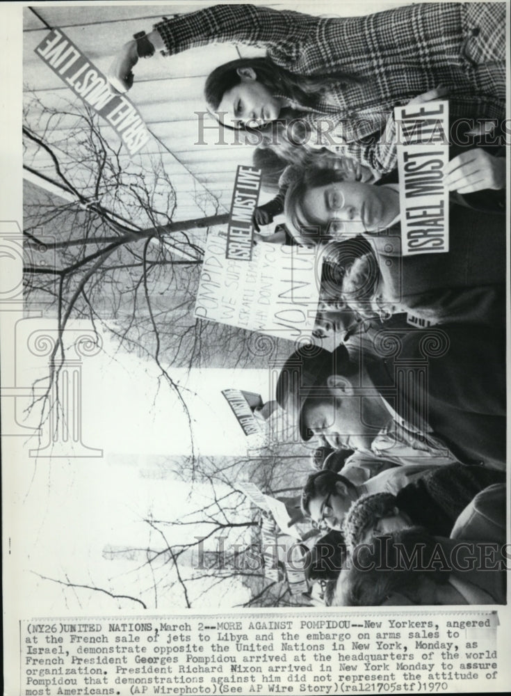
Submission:
[[[403,255],[449,251],[448,102],[396,106]]]

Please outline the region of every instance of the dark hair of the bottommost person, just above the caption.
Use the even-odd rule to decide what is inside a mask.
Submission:
[[[421,577],[428,577],[435,583],[446,583],[451,569],[409,567],[405,553],[408,558],[413,558],[414,551],[419,548],[419,558],[430,560],[435,557],[438,543],[427,530],[410,527],[392,535],[375,537],[371,544],[356,546],[348,577],[344,580],[347,589],[343,604],[380,606],[389,601],[392,594],[404,594],[415,604],[420,604]]]

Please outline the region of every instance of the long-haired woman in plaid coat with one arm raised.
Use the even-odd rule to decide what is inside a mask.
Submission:
[[[298,118],[299,145],[327,147],[376,171],[396,166],[394,106],[439,85],[448,90],[451,118],[505,117],[505,3],[419,3],[340,18],[213,6],[137,33],[109,79],[125,92],[139,57],[213,42],[267,50],[209,75],[206,101],[225,125],[268,129],[283,119],[292,141]]]

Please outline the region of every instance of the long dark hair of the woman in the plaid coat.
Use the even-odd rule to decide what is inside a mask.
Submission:
[[[329,90],[342,89],[348,83],[364,81],[354,74],[342,71],[332,72],[326,76],[290,72],[274,63],[268,56],[238,58],[236,61],[219,65],[206,79],[204,97],[213,111],[218,110],[224,93],[241,82],[241,77],[237,72],[239,68],[252,68],[257,75],[257,80],[271,92],[289,97],[293,102],[298,102],[300,106],[307,107],[314,107],[318,101],[318,96]],[[338,110],[335,108],[335,111]]]

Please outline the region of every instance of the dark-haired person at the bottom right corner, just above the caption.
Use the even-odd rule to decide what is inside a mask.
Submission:
[[[503,547],[433,537],[420,527],[355,547],[334,606],[505,603]],[[500,559],[500,562],[499,562]]]

